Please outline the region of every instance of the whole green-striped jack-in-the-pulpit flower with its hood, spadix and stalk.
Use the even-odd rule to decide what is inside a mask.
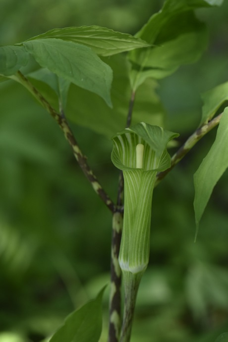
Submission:
[[[130,340],[138,286],[149,262],[151,206],[157,172],[171,166],[168,142],[178,134],[144,122],[113,138],[112,161],[123,171],[124,215],[119,252],[125,306],[120,342]]]

